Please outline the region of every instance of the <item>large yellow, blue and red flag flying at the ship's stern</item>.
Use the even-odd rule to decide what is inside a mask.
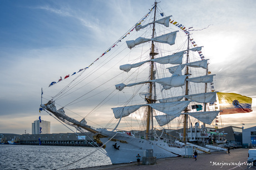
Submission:
[[[252,98],[237,93],[217,93],[220,104],[220,114],[252,112]]]

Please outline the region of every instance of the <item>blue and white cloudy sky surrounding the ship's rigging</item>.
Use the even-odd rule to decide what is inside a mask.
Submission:
[[[146,1],[0,1],[0,133],[32,133],[41,88],[85,68],[141,19]],[[256,2],[169,1],[161,9],[187,27],[217,74],[215,88],[253,98],[253,112],[224,115],[224,126],[256,126]],[[51,116],[51,133],[70,132]]]

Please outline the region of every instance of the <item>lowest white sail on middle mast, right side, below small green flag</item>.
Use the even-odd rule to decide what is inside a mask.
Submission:
[[[188,113],[190,116],[199,119],[199,121],[205,124],[211,124],[213,120],[218,116],[220,111],[209,111],[209,112],[191,112]]]

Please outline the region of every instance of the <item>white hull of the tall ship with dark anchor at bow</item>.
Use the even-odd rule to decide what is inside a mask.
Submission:
[[[106,131],[107,138],[100,138],[102,143],[109,141],[109,139],[116,134],[116,132]],[[114,144],[120,146],[119,149],[114,148]],[[185,148],[169,147],[168,143],[161,141],[149,141],[146,139],[135,138],[124,133],[118,133],[106,144],[106,152],[111,159],[112,164],[130,163],[137,161],[137,154],[142,157],[147,149],[153,149],[153,156],[157,159],[177,157],[178,155],[185,155]]]

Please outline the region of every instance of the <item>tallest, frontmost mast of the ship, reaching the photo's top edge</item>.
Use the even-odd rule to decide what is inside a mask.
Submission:
[[[154,22],[153,22],[153,29],[152,29],[152,38],[154,38],[154,35],[155,35],[156,4],[157,4],[157,2],[155,2],[155,13],[154,13]],[[157,53],[155,53],[155,45],[152,41],[151,42],[151,52],[150,52],[151,59],[154,59],[155,55],[157,55]],[[152,79],[155,79],[155,76],[154,76],[154,62],[151,61],[151,63],[150,63],[150,80],[152,80]],[[153,83],[150,82],[150,84],[149,84],[149,98],[147,99],[147,103],[149,103],[149,104],[154,102],[154,100],[152,100],[152,91],[153,91]],[[152,108],[150,106],[148,106],[147,119],[146,119],[147,120],[146,138],[147,138],[147,135],[149,134],[151,116],[152,116]]]

